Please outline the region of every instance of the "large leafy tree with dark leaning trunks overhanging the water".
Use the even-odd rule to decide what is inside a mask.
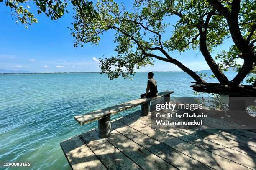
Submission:
[[[52,19],[61,17],[67,5],[65,1],[54,1],[62,4],[62,13],[59,13],[58,8],[47,5],[50,0],[35,2],[46,15],[54,17]],[[75,10],[71,28],[74,47],[84,43],[97,45],[100,35],[116,30],[117,55],[100,59],[101,70],[110,79],[131,78],[135,67],[153,65],[158,59],[177,65],[197,82],[205,82],[170,55],[174,50],[200,50],[220,84],[230,86],[239,85],[255,65],[255,0],[135,0],[132,10],[114,0],[95,4],[72,0],[71,3]],[[178,21],[172,23],[173,18]],[[174,31],[169,32],[172,24]],[[166,38],[163,34],[167,33],[170,36]],[[229,51],[219,52],[215,59],[220,63],[216,63],[212,53],[225,39],[232,39],[234,45]],[[237,58],[244,63],[236,77],[229,81],[223,70],[237,66]]]

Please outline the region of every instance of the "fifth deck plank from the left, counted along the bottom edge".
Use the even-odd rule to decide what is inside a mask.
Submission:
[[[126,120],[126,121],[128,121],[128,120]],[[188,143],[187,141],[181,140],[181,139],[175,137],[174,134],[170,135],[169,133],[153,129],[150,126],[146,125],[146,124],[148,124],[148,119],[146,119],[146,121],[140,120],[140,119],[130,120],[130,121],[133,121],[129,125],[132,128],[135,128],[135,129],[143,132],[144,134],[150,136],[151,138],[157,139],[157,140],[165,143],[166,145],[169,145],[170,147],[175,148],[176,150],[179,150],[180,152],[182,152],[182,153],[184,153],[184,154],[186,154],[186,155],[188,155],[188,156],[190,156],[190,157],[200,161],[201,163],[204,163],[214,169],[227,169],[227,170],[249,169],[243,165],[240,165],[239,163],[235,163],[231,160],[223,158],[223,157],[221,157],[215,153],[212,153],[208,150],[204,150],[196,145],[192,145],[191,143]],[[144,122],[144,123],[142,123],[142,122]],[[149,124],[150,124],[150,120],[149,120]],[[172,130],[170,130],[170,131],[172,131]]]

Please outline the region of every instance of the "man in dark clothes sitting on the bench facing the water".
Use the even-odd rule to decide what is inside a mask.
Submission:
[[[148,72],[148,85],[147,85],[146,93],[141,94],[141,98],[157,96],[157,94],[158,94],[157,84],[156,84],[156,80],[153,78],[153,76],[154,76],[153,72]]]

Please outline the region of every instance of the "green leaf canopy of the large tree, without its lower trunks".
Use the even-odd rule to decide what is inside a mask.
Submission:
[[[222,3],[228,9],[231,8],[229,1],[223,0]],[[241,0],[241,6],[239,25],[246,38],[255,23],[255,3],[253,0]],[[166,50],[160,50],[163,55],[174,50],[199,50],[200,31],[206,29],[209,52],[214,52],[225,39],[230,38],[227,21],[207,0],[135,0],[132,10],[127,10],[124,5],[113,0],[102,0],[91,6],[92,13],[84,10],[81,13],[80,9],[79,6],[75,7],[77,13],[72,28],[75,47],[88,42],[97,45],[101,34],[110,29],[117,31],[115,42],[118,45],[115,51],[118,55],[100,60],[102,72],[110,78],[119,77],[119,73],[129,77],[134,67],[152,65],[151,54],[160,48]],[[176,23],[173,22],[174,16],[178,18]],[[170,26],[173,26],[173,32],[169,31]],[[166,33],[169,37],[162,37]],[[255,34],[251,37],[253,40]],[[215,57],[220,60],[222,70],[237,66],[237,58],[239,50],[236,46],[232,46],[229,51],[221,51]]]

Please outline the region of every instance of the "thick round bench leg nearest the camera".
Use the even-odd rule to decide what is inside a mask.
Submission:
[[[98,120],[98,135],[100,138],[108,138],[110,136],[110,130],[110,116]]]

